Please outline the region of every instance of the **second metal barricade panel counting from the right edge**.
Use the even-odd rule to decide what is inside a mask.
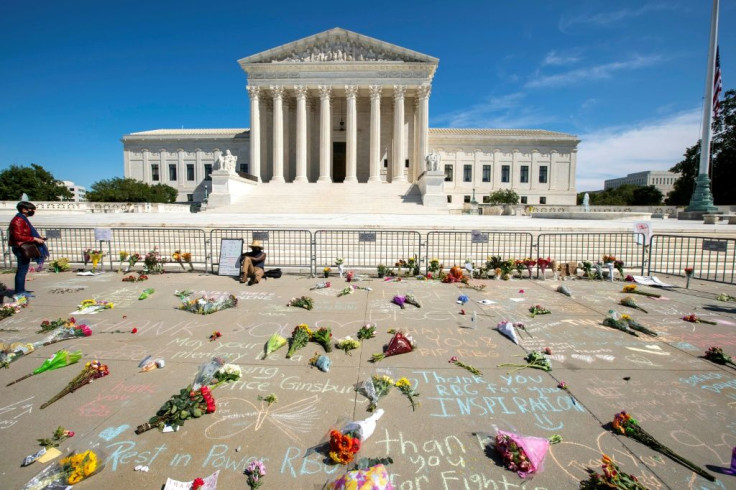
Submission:
[[[626,269],[644,274],[645,241],[642,233],[540,233],[537,256],[550,257],[558,263],[597,262],[613,255]]]

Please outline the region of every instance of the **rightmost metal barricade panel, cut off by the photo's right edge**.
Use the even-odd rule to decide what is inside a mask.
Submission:
[[[736,239],[680,235],[654,235],[649,250],[649,274],[693,277],[704,281],[734,284]]]

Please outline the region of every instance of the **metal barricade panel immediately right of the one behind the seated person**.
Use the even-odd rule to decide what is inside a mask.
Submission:
[[[334,266],[337,258],[344,259],[349,269],[393,267],[400,259],[421,260],[421,235],[417,231],[318,230],[314,252],[314,273]]]

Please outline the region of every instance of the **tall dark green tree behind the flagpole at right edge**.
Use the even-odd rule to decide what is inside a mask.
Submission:
[[[684,159],[670,169],[680,177],[674,189],[667,194],[667,204],[686,206],[695,188],[695,178],[700,167],[700,141],[685,150]],[[726,92],[721,101],[721,112],[713,121],[711,145],[711,192],[715,204],[734,204],[733,192],[736,179],[736,90]]]

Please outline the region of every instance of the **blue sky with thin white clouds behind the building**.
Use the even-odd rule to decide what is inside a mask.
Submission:
[[[245,128],[237,60],[342,27],[440,59],[431,127],[578,135],[577,187],[669,169],[700,135],[710,0],[5,0],[0,168],[123,175],[120,138]],[[724,89],[736,0],[721,0]]]

